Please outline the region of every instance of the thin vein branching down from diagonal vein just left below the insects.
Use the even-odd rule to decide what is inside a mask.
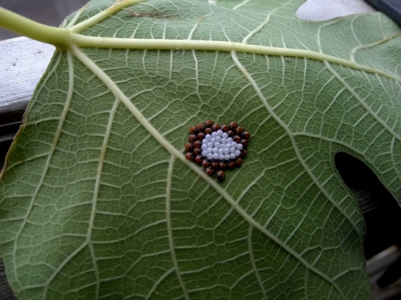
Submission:
[[[179,271],[178,261],[174,249],[174,240],[172,236],[170,202],[171,202],[172,171],[174,168],[174,161],[175,157],[171,155],[170,164],[168,165],[168,171],[167,171],[167,187],[166,187],[166,224],[167,224],[168,244],[170,245],[171,260],[174,265],[175,273],[177,274],[177,278],[179,284],[181,285],[182,292],[185,295],[185,299],[188,300],[189,299],[188,291],[186,290],[184,280],[182,280],[181,272]]]

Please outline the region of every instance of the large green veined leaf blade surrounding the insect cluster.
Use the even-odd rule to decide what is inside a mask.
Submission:
[[[302,2],[149,0],[79,33],[157,49],[56,50],[0,187],[19,298],[371,297],[364,221],[333,158],[358,157],[401,199],[400,30],[380,13],[299,20]],[[206,119],[251,133],[222,183],[184,158]]]

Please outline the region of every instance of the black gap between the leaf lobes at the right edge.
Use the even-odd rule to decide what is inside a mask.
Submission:
[[[401,249],[401,207],[377,176],[362,161],[347,154],[334,156],[335,167],[344,184],[354,194],[366,222],[364,251],[366,259],[396,245]],[[380,287],[401,277],[400,259],[390,265],[377,280]]]

